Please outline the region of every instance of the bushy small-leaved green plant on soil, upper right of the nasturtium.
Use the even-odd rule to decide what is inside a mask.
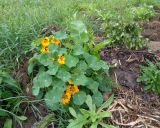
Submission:
[[[112,46],[139,49],[144,45],[142,29],[136,22],[124,22],[119,18],[109,21],[105,29]]]

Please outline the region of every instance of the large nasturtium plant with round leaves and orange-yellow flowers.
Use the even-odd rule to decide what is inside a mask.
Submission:
[[[109,66],[95,54],[100,48],[95,51],[90,47],[90,35],[81,21],[71,23],[69,34],[56,32],[33,42],[35,54],[28,67],[34,76],[33,95],[44,94],[46,105],[52,110],[81,106],[87,95],[100,106],[100,83],[109,78]],[[110,88],[107,83],[103,86]]]

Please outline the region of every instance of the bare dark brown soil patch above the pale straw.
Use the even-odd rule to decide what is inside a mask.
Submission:
[[[140,75],[139,66],[145,63],[145,59],[156,61],[155,54],[149,53],[147,49],[107,48],[101,50],[100,54],[107,63],[116,65],[112,72],[117,84],[135,91],[141,91],[143,88],[143,84],[136,82]]]

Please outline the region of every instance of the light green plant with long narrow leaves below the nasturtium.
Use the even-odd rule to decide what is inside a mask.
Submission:
[[[90,128],[97,128],[101,125],[104,128],[114,128],[112,125],[108,125],[102,122],[103,118],[111,116],[111,112],[104,111],[103,109],[110,106],[113,102],[113,95],[104,102],[98,109],[96,109],[95,104],[92,101],[90,95],[87,96],[86,104],[89,110],[80,109],[79,112],[76,112],[73,108],[69,108],[69,112],[74,117],[69,122],[67,128],[83,128],[83,126],[89,126]]]

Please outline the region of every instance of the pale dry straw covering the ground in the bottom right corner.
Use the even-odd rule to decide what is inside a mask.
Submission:
[[[120,89],[108,111],[109,121],[120,128],[160,127],[160,97],[155,94]]]

